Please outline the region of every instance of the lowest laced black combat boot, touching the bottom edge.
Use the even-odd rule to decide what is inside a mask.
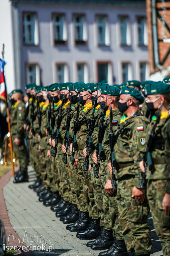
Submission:
[[[109,248],[108,251],[100,252],[99,256],[129,256],[129,253],[126,249],[124,240],[118,240]]]

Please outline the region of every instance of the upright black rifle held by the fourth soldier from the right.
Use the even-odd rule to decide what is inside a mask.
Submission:
[[[95,109],[97,107],[97,99],[98,99],[98,91],[99,91],[99,86],[97,89],[97,95],[95,95],[95,101],[94,101],[94,107],[93,107],[93,113],[92,116],[90,118],[90,122],[89,122],[89,133],[88,133],[88,137],[87,137],[87,141],[86,141],[86,152],[87,152],[87,156],[83,162],[83,167],[84,170],[87,171],[88,167],[89,167],[89,156],[90,156],[90,149],[93,147],[93,142],[92,142],[92,133],[94,131],[94,127],[95,127],[95,123],[96,123],[96,118],[94,118],[94,113],[95,113]]]

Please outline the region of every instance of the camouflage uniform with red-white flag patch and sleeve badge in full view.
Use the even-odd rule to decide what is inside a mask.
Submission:
[[[116,131],[114,154],[117,161],[117,203],[119,209],[119,224],[124,236],[128,252],[134,250],[136,255],[147,254],[151,250],[151,231],[147,224],[149,213],[148,202],[145,199],[138,204],[131,198],[132,188],[140,188],[139,161],[145,152],[145,137],[148,119],[136,111]]]

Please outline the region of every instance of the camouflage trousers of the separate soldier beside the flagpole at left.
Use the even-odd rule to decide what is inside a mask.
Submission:
[[[14,143],[15,138],[16,138],[16,135],[12,135],[14,152],[16,153],[17,158],[19,160],[20,169],[22,171],[27,172],[28,157],[27,157],[27,148],[24,142],[24,137],[21,138],[19,146],[16,146],[16,144]]]

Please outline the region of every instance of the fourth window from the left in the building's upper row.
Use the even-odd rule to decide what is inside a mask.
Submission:
[[[97,16],[98,45],[110,45],[107,16]]]

